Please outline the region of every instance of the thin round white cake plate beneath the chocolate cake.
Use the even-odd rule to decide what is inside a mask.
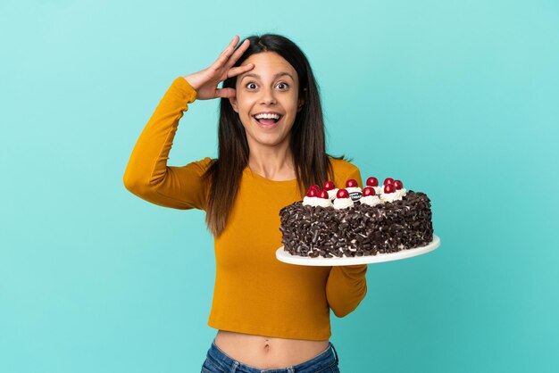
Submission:
[[[439,245],[440,238],[433,235],[433,240],[425,246],[401,250],[396,253],[378,253],[376,255],[354,257],[343,256],[341,258],[323,258],[321,256],[311,258],[308,256],[291,255],[283,250],[283,246],[281,246],[278,250],[276,250],[276,258],[278,258],[279,261],[300,266],[350,266],[355,264],[380,263],[382,261],[398,261],[400,259],[412,258],[413,256],[421,255],[423,253],[429,253],[438,248]]]

